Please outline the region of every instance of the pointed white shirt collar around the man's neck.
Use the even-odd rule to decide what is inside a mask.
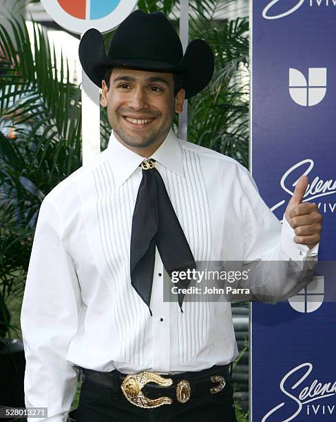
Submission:
[[[129,150],[129,148],[126,148],[125,145],[120,143],[114,136],[113,130],[109,137],[107,153],[109,154],[109,161],[112,164],[114,180],[118,187],[122,185],[136,168],[138,168],[140,163],[145,160],[145,157],[136,154],[136,152]],[[165,141],[161,143],[159,148],[149,158],[158,161],[158,163],[172,172],[184,176],[182,146],[172,129],[167,134]]]

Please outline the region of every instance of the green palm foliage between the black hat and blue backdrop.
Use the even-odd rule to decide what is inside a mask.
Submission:
[[[207,14],[200,14],[196,22],[191,21],[193,38],[200,37],[209,43],[216,64],[209,86],[189,101],[188,138],[247,167],[249,23],[246,19],[211,22]]]

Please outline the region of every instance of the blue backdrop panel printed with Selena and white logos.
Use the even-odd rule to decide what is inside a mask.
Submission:
[[[336,0],[251,0],[251,171],[279,219],[308,175],[325,261],[336,257],[335,41]],[[336,304],[323,301],[334,274],[301,308],[251,305],[252,421],[336,421]]]

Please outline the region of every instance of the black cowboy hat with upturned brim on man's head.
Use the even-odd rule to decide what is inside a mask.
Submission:
[[[213,75],[211,48],[202,39],[189,43],[185,55],[178,34],[162,12],[136,10],[120,23],[105,53],[103,35],[92,28],[79,44],[87,76],[101,88],[105,70],[114,66],[180,74],[186,98],[207,86]]]

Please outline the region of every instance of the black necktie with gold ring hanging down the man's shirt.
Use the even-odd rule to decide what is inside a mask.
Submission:
[[[132,286],[149,307],[154,276],[155,247],[165,270],[171,277],[173,271],[196,269],[196,263],[182,230],[165,183],[153,159],[141,163],[141,180],[132,219],[131,235],[131,280]],[[179,288],[187,288],[189,280],[179,280]],[[182,310],[184,294],[178,294]]]

